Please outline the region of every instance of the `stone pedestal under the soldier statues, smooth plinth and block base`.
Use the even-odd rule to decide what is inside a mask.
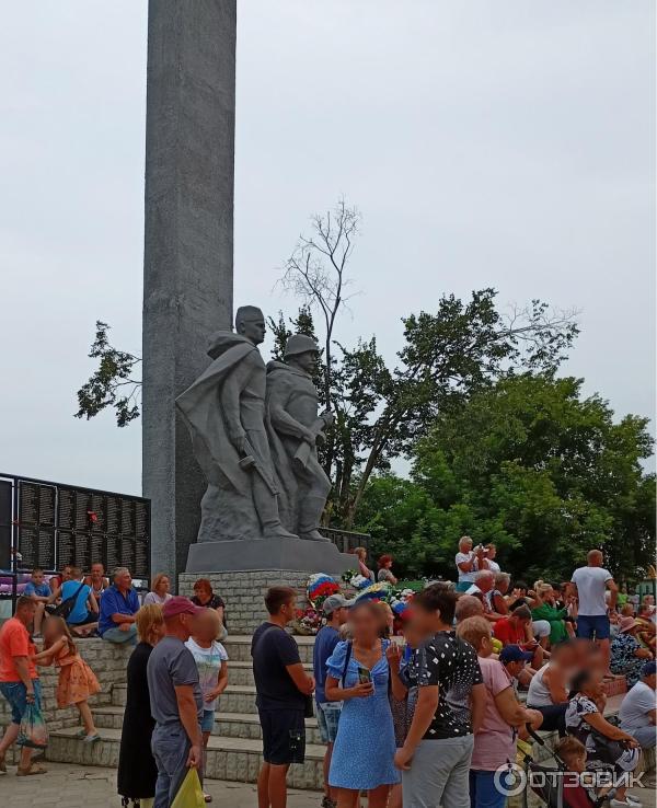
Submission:
[[[208,578],[226,601],[230,634],[251,634],[267,619],[265,592],[269,587],[292,587],[298,605],[307,604],[306,586],[313,573],[336,579],[356,569],[355,555],[341,553],[332,542],[300,539],[263,539],[198,542],[189,546],[187,570],[178,576],[181,595],[193,595],[194,581]]]

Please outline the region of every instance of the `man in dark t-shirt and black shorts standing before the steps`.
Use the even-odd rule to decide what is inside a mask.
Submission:
[[[263,728],[265,762],[257,778],[258,808],[285,808],[290,763],[303,763],[306,703],[314,679],[303,669],[299,648],[285,626],[295,617],[297,592],[272,587],[265,596],[269,620],[251,643],[257,711]]]

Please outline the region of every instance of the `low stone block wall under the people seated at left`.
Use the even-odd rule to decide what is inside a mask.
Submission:
[[[126,681],[126,666],[131,648],[104,643],[102,639],[79,639],[76,645],[80,656],[89,663],[101,683],[101,692],[90,700],[90,704],[110,704],[112,686]],[[43,649],[42,640],[37,642],[37,650]],[[80,714],[76,707],[57,707],[58,668],[39,668],[42,684],[42,703],[48,729],[56,730],[64,727],[74,727],[80,724]],[[0,696],[0,727],[11,722],[11,711],[7,701]]]

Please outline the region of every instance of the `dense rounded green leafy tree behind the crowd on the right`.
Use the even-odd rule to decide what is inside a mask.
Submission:
[[[423,564],[446,575],[453,575],[459,535],[469,533],[494,541],[505,568],[531,580],[569,576],[595,546],[614,574],[634,577],[654,563],[655,477],[641,465],[653,448],[647,419],[614,423],[609,404],[583,397],[581,384],[508,374],[443,408],[402,481],[423,503],[418,521],[404,521],[405,506],[392,494],[387,506],[381,492],[392,484],[376,478],[358,528],[372,526],[379,545],[412,573],[417,563],[406,547],[424,530]]]

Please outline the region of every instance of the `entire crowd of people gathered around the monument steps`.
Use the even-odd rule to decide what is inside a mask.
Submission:
[[[359,562],[370,580],[396,584],[391,556],[379,561],[377,576],[366,556]],[[364,792],[369,808],[503,808],[517,744],[552,730],[574,775],[614,775],[612,808],[641,805],[621,775],[638,771],[642,750],[655,747],[652,598],[623,598],[597,550],[560,585],[511,581],[495,549],[468,538],[456,566],[457,586],[439,581],[418,591],[401,627],[384,602],[327,597],[312,673],[286,631],[297,615],[297,591],[268,590],[268,617],[251,646],[264,758],[258,808],[286,806],[288,769],[304,761],[306,719],[313,715],[326,748],[323,808],[356,808]],[[123,567],[111,580],[100,565],[89,577],[71,567],[51,587],[34,570],[31,585],[0,628],[0,693],[12,712],[0,772],[27,706],[42,706],[39,666],[59,669],[57,706],[76,705],[80,738],[97,740],[89,699],[100,684],[78,653],[77,628],[135,645],[118,794],[124,806],[152,800],[166,808],[191,766],[203,778],[228,683],[227,604],[207,579],[196,582],[192,598],[174,596],[165,575],[140,599]],[[38,653],[35,635],[44,640]],[[606,693],[618,682],[629,692],[610,719]],[[43,772],[22,746],[16,773]],[[581,795],[589,803],[577,801]],[[570,808],[601,796],[604,789],[564,789]]]

